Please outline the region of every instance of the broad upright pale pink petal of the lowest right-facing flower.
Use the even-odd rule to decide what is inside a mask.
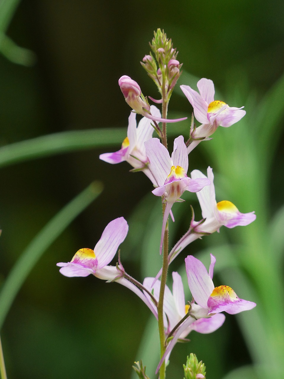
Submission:
[[[212,279],[197,258],[188,255],[185,262],[190,292],[197,304],[206,309],[208,298],[214,290]]]

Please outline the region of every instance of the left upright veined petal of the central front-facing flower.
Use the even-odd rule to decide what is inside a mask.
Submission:
[[[145,142],[146,155],[150,161],[151,172],[159,186],[164,185],[172,167],[172,160],[168,150],[158,138],[151,138]]]

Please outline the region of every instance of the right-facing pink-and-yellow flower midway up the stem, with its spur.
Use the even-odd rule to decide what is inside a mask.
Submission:
[[[191,172],[192,179],[206,178],[206,176],[199,170]],[[202,234],[219,232],[221,226],[227,228],[234,228],[235,226],[247,226],[256,219],[253,212],[241,213],[236,205],[228,200],[216,202],[214,175],[211,167],[207,169],[207,178],[210,180],[210,185],[204,187],[197,193],[199,204],[202,211],[204,222],[197,222],[192,220],[188,232],[175,244],[169,254],[169,263],[197,238]]]

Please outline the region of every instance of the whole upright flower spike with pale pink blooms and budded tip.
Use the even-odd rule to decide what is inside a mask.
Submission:
[[[196,128],[192,123],[190,139],[186,143],[182,135],[175,138],[170,155],[167,149],[166,123],[186,119],[183,117],[169,120],[166,117],[173,87],[181,74],[181,64],[176,59],[177,52],[173,49],[172,41],[167,39],[161,30],[154,34],[151,49],[153,55],[145,55],[142,65],[158,86],[162,99],[153,100],[150,96],[149,99],[162,103],[162,114],[155,105],[150,106],[138,83],[123,75],[119,79],[119,86],[126,103],[133,110],[128,119],[127,136],[118,151],[103,153],[100,159],[111,164],[126,161],[132,166],[131,171],[142,171],[153,183],[152,193],[161,197],[163,208],[161,243],[157,247],[157,252],[161,254],[163,251],[164,254],[163,266],[155,278],[146,277],[143,283],[140,283],[126,273],[120,261],[120,254],[118,263],[115,266],[109,265],[128,233],[128,224],[123,217],[109,222],[94,249],[80,249],[70,262],[57,265],[61,267],[61,274],[68,277],[92,274],[99,279],[120,283],[144,301],[158,320],[161,361],[157,372],[160,370],[160,377],[164,378],[164,361],[169,359],[177,341],[185,340],[192,330],[203,334],[214,332],[225,321],[225,315],[221,312],[235,314],[250,310],[256,305],[254,302],[240,299],[228,285],[214,286],[212,277],[216,260],[212,254],[209,271],[192,255],[185,258],[187,281],[192,294],[192,299],[186,302],[181,276],[177,272],[172,273],[172,291],[166,285],[170,263],[201,236],[219,232],[221,226],[246,226],[253,222],[256,216],[254,212],[241,213],[229,200],[216,201],[211,167],[207,169],[207,176],[197,169],[188,174],[188,154],[198,143],[208,139],[218,126],[229,127],[239,121],[245,115],[243,107],[230,107],[221,100],[214,100],[212,80],[200,79],[197,83],[199,93],[187,85],[181,85],[183,93],[193,107],[194,116],[201,125]],[[138,125],[136,114],[142,115]],[[162,128],[159,123],[162,123]],[[154,131],[158,138],[153,137]],[[174,221],[173,204],[184,201],[181,198],[184,191],[197,193],[203,218],[195,221],[192,211],[189,230],[168,252],[168,218],[171,216]],[[137,364],[137,367],[137,373],[144,375],[142,362]],[[187,371],[190,371],[189,368]],[[146,377],[143,375],[142,377]],[[197,375],[204,377],[201,371]]]

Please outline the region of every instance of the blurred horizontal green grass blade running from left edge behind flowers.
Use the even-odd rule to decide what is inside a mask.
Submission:
[[[184,131],[186,125],[184,122],[178,122],[175,128],[169,128],[169,136],[174,136]],[[26,141],[0,147],[0,167],[76,150],[110,146],[120,149],[126,135],[126,128],[100,128],[53,133],[27,139]]]

